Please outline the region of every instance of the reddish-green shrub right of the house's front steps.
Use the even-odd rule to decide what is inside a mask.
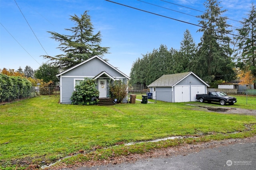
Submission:
[[[120,103],[127,96],[127,85],[122,83],[121,80],[116,80],[113,84],[110,84],[109,91],[110,97],[117,99],[117,102]]]

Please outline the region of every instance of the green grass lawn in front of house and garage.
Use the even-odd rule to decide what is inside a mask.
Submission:
[[[250,97],[247,105],[243,101],[246,96],[236,97],[238,103],[232,107],[256,109],[255,97]],[[108,155],[104,149],[107,147],[123,154],[145,151],[146,144],[125,147],[122,151],[120,147],[113,147],[117,143],[185,135],[204,135],[200,138],[204,141],[207,137],[255,135],[255,116],[200,111],[187,103],[140,104],[136,101],[136,104],[114,106],[75,106],[58,104],[58,101],[59,96],[41,96],[0,106],[0,169],[28,166],[20,165],[22,160],[50,163],[79,150],[90,154],[98,148],[100,155],[104,152]],[[245,125],[252,128],[248,130]],[[233,135],[233,132],[240,133]],[[216,135],[209,137],[208,134]],[[169,146],[168,142],[160,143],[147,144],[147,147]]]

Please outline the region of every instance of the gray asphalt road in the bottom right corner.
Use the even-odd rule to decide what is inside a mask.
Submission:
[[[256,141],[240,141],[234,145],[203,149],[186,156],[163,156],[134,163],[83,167],[78,170],[256,170]]]

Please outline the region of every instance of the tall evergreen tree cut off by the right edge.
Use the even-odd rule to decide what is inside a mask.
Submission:
[[[237,29],[242,37],[238,37],[239,49],[242,55],[238,57],[238,65],[246,72],[251,72],[254,77],[254,89],[256,89],[256,9],[252,4],[248,18],[243,18],[242,28]]]

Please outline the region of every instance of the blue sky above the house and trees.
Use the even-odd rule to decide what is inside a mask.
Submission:
[[[205,11],[204,0],[113,1],[194,24],[198,24],[199,18],[193,16],[202,14],[196,10]],[[237,21],[246,18],[252,2],[254,0],[223,0],[220,6],[222,10],[228,10],[224,13],[224,16],[232,19],[228,20],[228,23],[240,27]],[[36,70],[40,64],[47,62],[41,55],[63,54],[57,49],[59,43],[51,39],[46,31],[69,34],[64,29],[74,26],[70,16],[80,16],[86,10],[89,11],[95,33],[101,31],[101,46],[110,47],[110,54],[106,54],[104,59],[108,59],[110,64],[128,76],[136,59],[152,52],[153,49],[158,49],[161,44],[166,45],[168,49],[180,49],[186,29],[190,31],[196,44],[200,42],[202,35],[197,32],[198,26],[105,0],[0,0],[0,69],[17,70],[19,66],[24,69],[28,65]]]

